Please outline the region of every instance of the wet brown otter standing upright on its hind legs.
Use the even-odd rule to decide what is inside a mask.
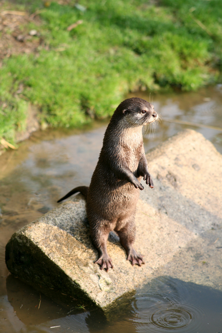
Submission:
[[[118,234],[127,260],[132,265],[144,263],[143,255],[133,247],[138,188],[144,189],[141,177],[153,188],[143,147],[142,126],[157,119],[153,105],[141,98],[121,102],[107,127],[90,186],[76,187],[58,201],[76,192],[86,196],[91,237],[99,251],[95,263],[101,265],[101,269],[113,268],[107,252],[111,230]]]

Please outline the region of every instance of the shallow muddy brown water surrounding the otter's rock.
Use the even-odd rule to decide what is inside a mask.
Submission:
[[[144,93],[132,96],[149,100]],[[152,128],[143,130],[146,152],[192,128],[222,153],[221,86],[155,95],[153,104],[163,121],[154,135]],[[18,151],[1,156],[0,332],[222,332],[222,293],[210,288],[161,277],[126,298],[119,319],[107,323],[98,311],[77,309],[82,305],[78,301],[54,302],[9,274],[4,262],[7,241],[13,232],[56,207],[68,190],[90,183],[107,123],[78,131],[38,132]]]

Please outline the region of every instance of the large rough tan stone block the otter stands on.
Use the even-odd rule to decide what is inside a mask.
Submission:
[[[106,310],[126,292],[159,275],[222,290],[222,156],[186,130],[147,154],[154,189],[140,192],[132,266],[111,233],[109,272],[94,264],[85,200],[66,201],[17,231],[6,246],[9,271],[23,281],[86,299]]]

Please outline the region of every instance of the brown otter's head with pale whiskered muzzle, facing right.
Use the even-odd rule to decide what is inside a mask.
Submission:
[[[158,119],[153,105],[137,97],[128,98],[120,103],[117,109],[122,112],[125,121],[131,126],[147,125]]]

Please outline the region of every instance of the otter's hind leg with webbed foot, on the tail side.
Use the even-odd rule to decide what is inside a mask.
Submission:
[[[99,259],[94,263],[100,265],[100,269],[113,268],[112,259],[107,252],[107,240],[109,237],[110,229],[103,227],[102,230],[91,230],[91,237],[99,252]]]

